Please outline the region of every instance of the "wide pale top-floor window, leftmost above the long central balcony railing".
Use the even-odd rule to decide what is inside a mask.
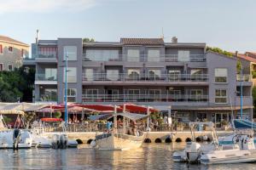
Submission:
[[[93,61],[118,61],[119,50],[87,49],[85,60]]]

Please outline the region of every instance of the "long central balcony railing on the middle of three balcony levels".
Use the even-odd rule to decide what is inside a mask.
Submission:
[[[160,81],[160,82],[207,82],[208,75],[207,74],[197,74],[197,75],[189,75],[189,74],[112,74],[108,75],[107,73],[95,73],[86,75],[83,74],[83,81]]]

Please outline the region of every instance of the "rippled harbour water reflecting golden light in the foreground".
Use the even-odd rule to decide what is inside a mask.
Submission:
[[[137,150],[93,150],[88,144],[67,150],[0,150],[0,169],[256,169],[252,164],[174,163],[172,152],[184,144],[143,144]]]

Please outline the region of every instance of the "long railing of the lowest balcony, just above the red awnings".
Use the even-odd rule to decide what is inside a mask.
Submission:
[[[83,102],[207,102],[208,95],[83,94]]]

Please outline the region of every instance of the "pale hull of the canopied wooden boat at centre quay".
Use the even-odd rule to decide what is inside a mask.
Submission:
[[[96,136],[96,144],[99,150],[131,150],[142,146],[143,135],[106,133]]]

